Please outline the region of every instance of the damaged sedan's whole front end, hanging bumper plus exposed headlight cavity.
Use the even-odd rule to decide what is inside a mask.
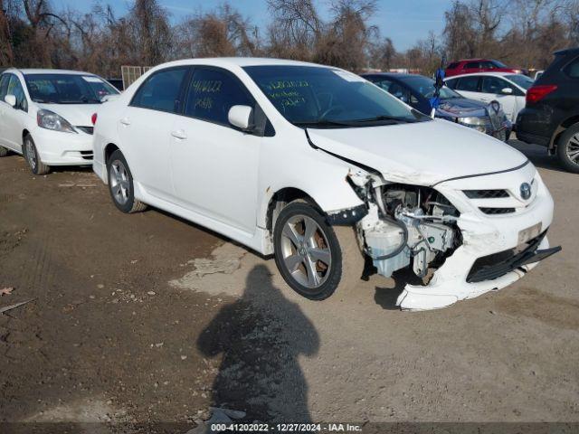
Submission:
[[[365,203],[355,227],[377,272],[391,277],[409,268],[422,278],[422,285],[408,284],[398,297],[396,305],[406,310],[447,307],[505,288],[561,250],[549,248],[553,200],[532,165],[436,188],[388,182],[362,169],[350,170],[346,179]],[[515,186],[526,181],[532,193],[522,199]],[[490,190],[476,190],[480,185]]]

